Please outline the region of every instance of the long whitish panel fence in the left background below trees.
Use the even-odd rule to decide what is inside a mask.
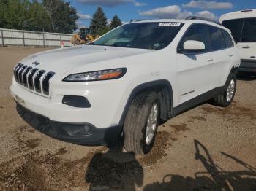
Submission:
[[[21,31],[0,28],[0,46],[70,47],[72,34]]]

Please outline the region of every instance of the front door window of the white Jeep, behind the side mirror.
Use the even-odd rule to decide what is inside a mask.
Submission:
[[[195,24],[191,26],[186,34],[184,34],[183,38],[181,39],[181,42],[178,45],[178,50],[183,50],[183,44],[184,42],[188,40],[195,40],[199,42],[203,42],[206,44],[206,26],[201,24]],[[207,50],[207,44],[206,44],[206,50]]]

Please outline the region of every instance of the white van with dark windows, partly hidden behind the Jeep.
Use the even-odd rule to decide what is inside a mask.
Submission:
[[[256,74],[256,9],[227,13],[220,17],[219,22],[230,29],[238,44],[239,70]]]

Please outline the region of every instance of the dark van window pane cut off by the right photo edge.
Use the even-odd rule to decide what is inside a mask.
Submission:
[[[256,18],[244,19],[241,42],[256,42]]]

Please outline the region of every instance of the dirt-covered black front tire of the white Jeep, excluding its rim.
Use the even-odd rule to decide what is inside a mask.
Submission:
[[[157,125],[153,139],[146,144],[146,127],[152,106],[157,104]],[[124,121],[124,149],[136,155],[145,155],[154,145],[159,120],[159,96],[155,92],[140,93],[132,101]]]

